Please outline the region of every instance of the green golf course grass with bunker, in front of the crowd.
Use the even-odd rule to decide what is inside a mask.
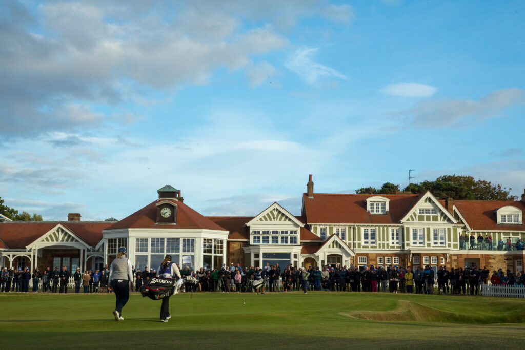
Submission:
[[[0,294],[1,348],[524,348],[525,301],[451,295],[302,292]]]

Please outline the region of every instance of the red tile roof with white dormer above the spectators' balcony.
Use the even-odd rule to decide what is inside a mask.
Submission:
[[[525,231],[525,225],[498,225],[495,212],[513,206],[525,213],[525,203],[520,200],[455,200],[454,205],[473,230]]]

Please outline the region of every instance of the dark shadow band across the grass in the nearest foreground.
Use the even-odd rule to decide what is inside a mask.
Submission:
[[[133,321],[151,321],[136,319]],[[152,321],[153,322],[153,321]],[[164,326],[164,327],[163,327]],[[348,348],[443,348],[457,347],[461,344],[462,349],[482,347],[504,347],[506,349],[522,348],[518,341],[518,335],[506,336],[503,338],[488,337],[480,343],[476,336],[440,336],[425,332],[392,332],[379,329],[373,332],[347,333],[345,330],[333,330],[333,333],[318,335],[297,335],[291,333],[261,333],[257,330],[238,331],[232,329],[228,331],[207,331],[207,330],[184,330],[183,325],[169,322],[161,324],[151,334],[143,331],[96,331],[86,332],[31,332],[28,337],[27,331],[6,332],[2,345],[5,348],[108,348],[118,346],[131,348],[188,348],[188,349],[238,349],[257,347],[281,349],[281,348],[302,348],[302,349],[348,349]],[[290,326],[292,327],[292,326]],[[312,328],[312,333],[316,330]],[[35,340],[38,339],[37,342]],[[423,343],[422,343],[423,342]]]

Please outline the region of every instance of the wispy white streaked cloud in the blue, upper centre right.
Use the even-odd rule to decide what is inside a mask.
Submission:
[[[346,76],[337,70],[313,61],[312,56],[314,56],[318,50],[319,48],[297,50],[295,54],[285,62],[286,68],[297,73],[304,81],[310,84],[317,82],[319,79],[328,78],[348,80]]]

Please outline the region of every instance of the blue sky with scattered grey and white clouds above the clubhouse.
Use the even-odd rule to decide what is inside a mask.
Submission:
[[[108,4],[109,3],[109,4]],[[525,187],[525,3],[3,2],[0,196],[121,219],[471,175]]]

